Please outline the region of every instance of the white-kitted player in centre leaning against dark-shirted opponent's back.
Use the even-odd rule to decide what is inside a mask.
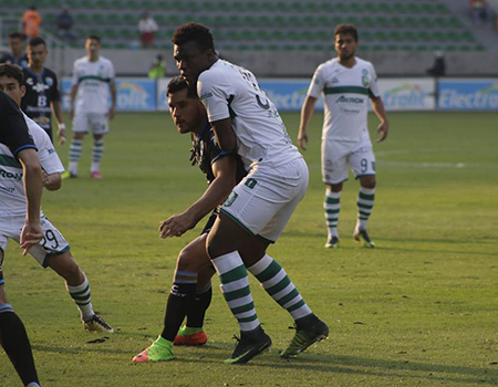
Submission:
[[[272,259],[266,251],[305,194],[308,166],[255,75],[217,56],[207,27],[180,25],[173,43],[177,67],[187,83],[197,87],[220,148],[237,151],[248,170],[222,205],[207,239],[207,252],[241,333],[227,363],[247,363],[269,349],[271,339],[258,321],[241,255],[261,258],[249,268],[256,276],[272,274]],[[284,294],[288,284],[276,276],[267,286],[273,287],[274,294]],[[279,300],[286,308],[293,307],[297,316],[295,336],[282,357],[294,356],[329,334],[326,324],[294,295],[291,292]]]

